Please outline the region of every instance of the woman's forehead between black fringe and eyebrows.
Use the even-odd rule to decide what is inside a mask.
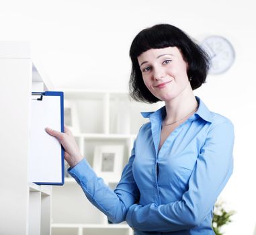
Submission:
[[[182,58],[182,54],[176,46],[169,46],[167,48],[149,49],[138,56],[138,62],[142,60],[156,59],[161,55],[170,54],[171,56]]]

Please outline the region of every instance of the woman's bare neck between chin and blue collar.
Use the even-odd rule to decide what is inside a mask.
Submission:
[[[185,117],[198,107],[198,101],[190,86],[177,97],[165,101],[165,123],[172,123]]]

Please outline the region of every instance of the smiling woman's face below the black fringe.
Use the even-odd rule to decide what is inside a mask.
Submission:
[[[187,62],[177,47],[150,49],[138,56],[144,84],[155,97],[169,101],[190,85]]]

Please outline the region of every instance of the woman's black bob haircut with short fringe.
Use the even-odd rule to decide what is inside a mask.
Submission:
[[[132,41],[130,47],[132,71],[129,81],[130,97],[132,99],[146,103],[160,101],[144,85],[137,57],[146,50],[169,46],[179,48],[183,60],[187,62],[187,77],[189,77],[189,81],[191,80],[190,84],[193,90],[206,82],[210,64],[210,59],[206,52],[179,28],[169,24],[158,24],[142,30]]]

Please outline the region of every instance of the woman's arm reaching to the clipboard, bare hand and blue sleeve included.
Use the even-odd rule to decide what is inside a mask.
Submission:
[[[121,180],[113,191],[108,185],[105,185],[103,179],[97,177],[87,160],[81,156],[75,138],[67,126],[65,126],[65,133],[50,128],[46,128],[46,132],[58,138],[65,148],[65,160],[71,167],[69,173],[82,187],[89,201],[108,216],[108,220],[111,222],[124,221],[128,208],[138,201],[139,197],[138,187],[132,175],[136,141],[134,141],[132,155],[124,168]]]

